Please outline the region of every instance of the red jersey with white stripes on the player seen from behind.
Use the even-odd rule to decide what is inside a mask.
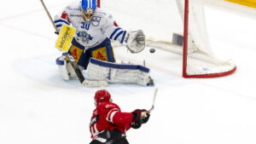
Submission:
[[[118,129],[125,134],[131,128],[131,112],[121,112],[113,102],[104,102],[96,107],[90,118],[90,134],[94,139],[102,130]]]

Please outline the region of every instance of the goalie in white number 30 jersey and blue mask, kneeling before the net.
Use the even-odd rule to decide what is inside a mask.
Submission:
[[[73,26],[76,29],[69,50],[74,60],[82,69],[88,68],[89,63],[91,63],[90,58],[114,63],[116,60],[113,55],[111,40],[119,41],[119,43],[124,44],[132,53],[140,52],[145,47],[143,31],[127,32],[117,26],[111,14],[107,14],[102,9],[96,7],[96,0],[82,0],[68,4],[60,14],[55,15],[54,22],[58,31],[61,30],[61,26],[63,25]],[[62,78],[66,80],[76,78],[76,74],[73,72],[72,66],[70,66],[69,61],[66,59],[66,55],[61,55],[56,61]],[[122,64],[116,64],[114,66],[119,69],[119,73],[123,72],[123,69],[119,68],[124,67]],[[141,75],[137,77],[140,78],[138,80],[134,80],[131,77],[129,78],[132,74],[125,75],[125,77],[128,78],[126,78],[124,82],[120,80],[120,77],[124,75],[115,75],[112,78],[106,78],[108,78],[108,82],[111,83],[153,84],[153,80],[149,77],[149,69],[148,71],[143,71],[140,66],[126,66],[124,73],[133,73],[135,67],[136,71],[141,73]],[[101,68],[102,67],[100,67],[98,71],[102,71]],[[103,66],[103,68],[105,67]],[[112,69],[113,67],[108,68],[108,70]],[[90,70],[95,71],[95,69],[92,68],[90,68]],[[96,74],[91,74],[91,71],[90,76],[97,79]],[[132,80],[129,81],[129,79]],[[143,82],[141,81],[142,79]]]

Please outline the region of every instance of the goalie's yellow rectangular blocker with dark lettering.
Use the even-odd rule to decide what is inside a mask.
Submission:
[[[61,49],[62,51],[67,52],[75,32],[76,32],[75,28],[71,26],[63,25],[61,27],[61,32],[59,34],[55,47],[58,49]]]

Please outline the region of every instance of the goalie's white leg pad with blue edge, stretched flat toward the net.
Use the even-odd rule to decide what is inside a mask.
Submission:
[[[154,85],[150,70],[145,66],[117,64],[90,58],[88,77],[109,83]]]

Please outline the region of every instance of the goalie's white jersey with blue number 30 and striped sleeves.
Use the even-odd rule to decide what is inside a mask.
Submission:
[[[118,40],[120,43],[127,43],[125,38],[127,32],[115,25],[111,14],[96,8],[90,23],[86,23],[80,3],[79,1],[70,3],[60,14],[55,15],[54,22],[58,31],[61,30],[63,25],[73,26],[76,29],[75,40],[83,45],[85,49],[95,47],[106,38]]]

